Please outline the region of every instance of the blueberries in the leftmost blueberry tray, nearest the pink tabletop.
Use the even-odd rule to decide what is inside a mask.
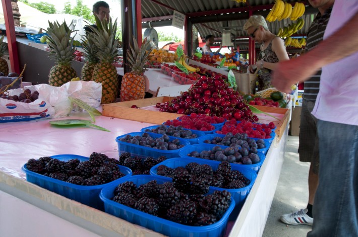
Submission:
[[[169,136],[167,134],[163,134],[162,137],[153,138],[148,132],[143,132],[141,136],[132,136],[127,134],[126,136],[120,138],[120,141],[159,150],[177,150],[185,146],[184,144],[180,144],[181,142],[177,138],[169,141]]]

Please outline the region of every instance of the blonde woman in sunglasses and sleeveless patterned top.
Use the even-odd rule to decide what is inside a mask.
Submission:
[[[261,15],[253,15],[244,25],[244,30],[256,42],[261,43],[260,55],[256,65],[249,65],[248,70],[254,73],[258,71],[258,91],[271,87],[271,70],[274,70],[277,62],[289,60],[286,46],[282,38],[272,34],[268,29],[266,20]]]

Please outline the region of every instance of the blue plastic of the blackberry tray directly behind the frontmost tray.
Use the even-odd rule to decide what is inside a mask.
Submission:
[[[166,161],[163,161],[155,166],[152,167],[152,169],[150,169],[150,174],[155,176],[155,177],[161,177],[163,179],[166,179],[167,181],[172,181],[171,178],[169,177],[165,177],[165,176],[160,176],[157,174],[157,169],[160,165],[164,165],[167,167],[170,167],[172,169],[177,168],[177,167],[186,167],[186,165],[188,165],[191,162],[196,162],[200,165],[204,165],[207,164],[209,166],[211,166],[211,168],[213,169],[213,171],[216,171],[218,166],[220,165],[220,162],[213,162],[213,161],[208,161],[208,160],[199,160],[199,159],[194,159],[194,158],[173,158],[173,159],[169,159]],[[233,198],[233,200],[235,200],[235,207],[239,206],[241,208],[241,206],[244,204],[246,197],[248,196],[252,186],[255,183],[257,174],[255,171],[253,171],[252,169],[249,168],[245,168],[245,167],[232,167],[231,170],[236,170],[236,171],[240,171],[246,178],[248,178],[250,180],[250,184],[244,188],[240,188],[240,189],[224,189],[224,188],[218,188],[218,187],[213,187],[211,186],[210,188],[212,188],[213,190],[227,190],[228,192],[231,193],[231,197]]]

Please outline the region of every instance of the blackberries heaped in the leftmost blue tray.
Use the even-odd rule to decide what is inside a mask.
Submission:
[[[125,176],[119,167],[119,161],[109,158],[105,154],[93,152],[88,161],[80,162],[72,159],[67,162],[40,157],[30,159],[26,163],[29,171],[77,185],[101,185]]]

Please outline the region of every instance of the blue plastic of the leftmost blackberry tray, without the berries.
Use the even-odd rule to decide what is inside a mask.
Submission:
[[[88,161],[89,158],[81,155],[75,154],[59,154],[59,155],[52,155],[54,159],[58,159],[60,161],[69,161],[72,159],[78,159],[80,162]],[[131,169],[118,165],[119,170],[125,174],[126,176],[131,176],[132,171]],[[104,210],[103,202],[99,198],[99,193],[101,189],[110,185],[118,180],[121,180],[125,177],[122,177],[118,180],[112,181],[107,184],[102,185],[93,185],[93,186],[84,186],[84,185],[77,185],[71,184],[65,181],[53,179],[44,175],[40,175],[38,173],[29,171],[26,168],[26,164],[22,167],[22,170],[26,174],[26,180],[30,183],[36,184],[42,188],[45,188],[49,191],[55,192],[59,195],[65,196],[67,198],[73,199],[85,205]]]

